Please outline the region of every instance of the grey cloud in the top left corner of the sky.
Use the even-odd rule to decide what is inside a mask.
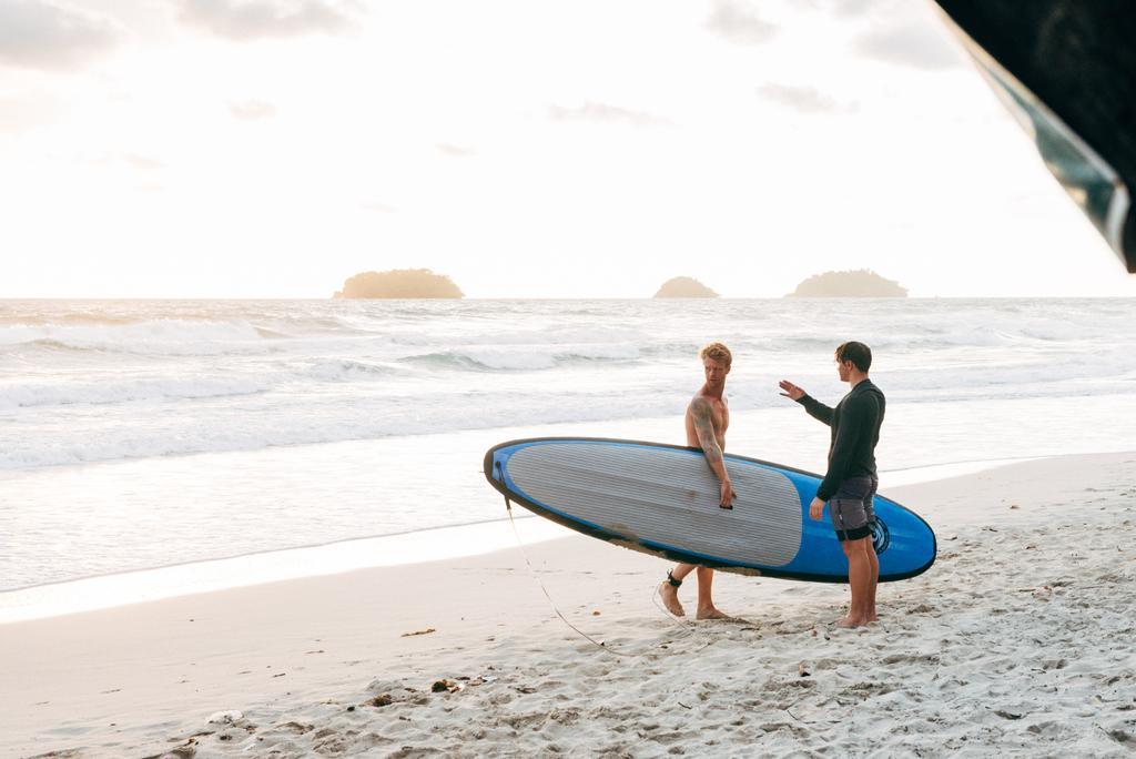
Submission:
[[[103,16],[49,0],[0,0],[0,64],[68,70],[101,58],[125,37]]]

